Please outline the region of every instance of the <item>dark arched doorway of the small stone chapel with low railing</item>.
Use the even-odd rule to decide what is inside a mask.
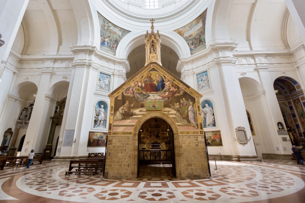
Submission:
[[[138,177],[175,177],[174,133],[161,118],[146,120],[138,133]]]

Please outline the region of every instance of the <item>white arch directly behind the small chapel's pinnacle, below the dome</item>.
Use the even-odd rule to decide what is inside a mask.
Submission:
[[[127,58],[128,54],[136,47],[144,43],[145,31],[133,31],[128,33],[117,46],[116,57]],[[185,40],[174,31],[162,30],[161,46],[165,44],[174,50],[179,58],[191,56],[191,52]]]

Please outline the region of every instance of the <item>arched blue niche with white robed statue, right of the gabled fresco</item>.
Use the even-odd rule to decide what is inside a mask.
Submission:
[[[216,127],[214,107],[210,100],[203,100],[201,102],[201,114],[203,117],[203,125],[205,128]]]

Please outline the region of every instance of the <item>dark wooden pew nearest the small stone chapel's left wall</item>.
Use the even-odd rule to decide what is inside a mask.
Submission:
[[[73,170],[73,168],[75,169]],[[69,171],[65,171],[65,175],[71,173],[92,173],[95,175],[98,170],[98,160],[70,160]]]

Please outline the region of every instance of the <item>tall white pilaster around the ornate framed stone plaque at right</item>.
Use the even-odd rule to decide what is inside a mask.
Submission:
[[[251,135],[249,123],[246,115],[246,108],[242,97],[242,92],[239,85],[239,80],[236,75],[235,59],[232,56],[232,51],[235,49],[235,44],[224,45],[215,44],[215,63],[220,75],[220,83],[222,87],[222,95],[226,109],[227,119],[227,134],[228,142],[231,144],[231,155],[239,156],[256,156],[253,138]],[[235,128],[246,128],[249,142],[246,145],[239,144]]]

